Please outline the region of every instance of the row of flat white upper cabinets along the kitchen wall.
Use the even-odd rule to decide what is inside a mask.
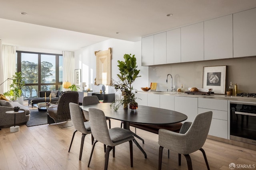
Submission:
[[[256,8],[142,38],[142,66],[256,56]]]

